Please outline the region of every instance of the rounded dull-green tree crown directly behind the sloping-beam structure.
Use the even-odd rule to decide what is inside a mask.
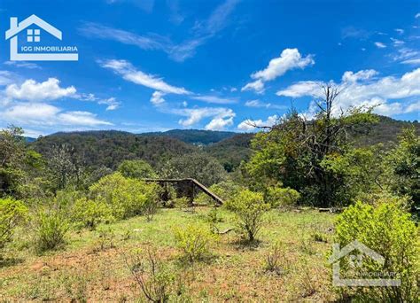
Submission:
[[[206,186],[220,183],[227,178],[219,161],[204,152],[193,152],[171,159],[160,175],[167,178],[193,178]]]

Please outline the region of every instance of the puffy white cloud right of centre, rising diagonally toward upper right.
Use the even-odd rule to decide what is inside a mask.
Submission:
[[[289,70],[303,69],[314,64],[315,61],[312,55],[302,57],[298,49],[285,49],[280,54],[280,57],[271,59],[265,69],[251,74],[251,78],[255,82],[247,83],[242,90],[254,89],[257,92],[261,92],[264,89],[264,82],[272,81]]]

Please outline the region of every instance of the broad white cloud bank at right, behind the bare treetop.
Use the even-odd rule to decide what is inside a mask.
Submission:
[[[413,102],[412,97],[420,96],[420,86],[418,85],[420,83],[420,68],[403,74],[400,78],[387,76],[372,79],[376,74],[373,70],[343,74],[343,82],[338,83],[340,95],[334,109],[335,112],[338,113],[340,108],[346,109],[350,106],[374,105],[378,105],[375,108],[376,113],[385,115],[416,112],[418,101]],[[322,96],[323,84],[325,83],[297,82],[286,89],[277,91],[277,95],[288,97]],[[399,101],[390,101],[396,99]],[[405,102],[401,101],[403,99],[406,99]]]

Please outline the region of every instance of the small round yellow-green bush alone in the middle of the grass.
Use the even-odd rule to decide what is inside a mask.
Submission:
[[[176,245],[183,251],[183,257],[191,263],[202,260],[209,253],[210,245],[214,240],[214,234],[203,225],[190,224],[185,228],[175,229]]]

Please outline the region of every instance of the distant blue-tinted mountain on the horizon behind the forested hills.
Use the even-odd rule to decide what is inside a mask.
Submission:
[[[218,143],[237,133],[231,131],[214,131],[201,129],[172,129],[165,132],[143,133],[142,136],[170,136],[188,144],[209,145]]]

